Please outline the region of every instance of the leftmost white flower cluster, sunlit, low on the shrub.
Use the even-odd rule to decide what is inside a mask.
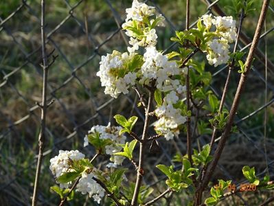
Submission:
[[[59,155],[50,159],[49,169],[52,170],[52,174],[58,178],[65,172],[71,172],[73,169],[71,168],[70,162],[74,160],[84,159],[84,154],[79,152],[78,150],[64,151],[59,150]],[[57,181],[58,183],[58,181]],[[70,183],[60,184],[61,188],[69,187]]]

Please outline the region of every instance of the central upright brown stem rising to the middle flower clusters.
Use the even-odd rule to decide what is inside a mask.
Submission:
[[[141,181],[143,179],[144,175],[144,151],[146,147],[146,133],[148,131],[148,126],[149,126],[149,113],[150,113],[150,108],[152,107],[152,100],[153,100],[153,95],[154,95],[154,85],[152,84],[152,87],[148,90],[149,92],[149,97],[148,97],[148,107],[146,108],[146,119],[145,119],[145,124],[144,124],[144,130],[143,130],[143,135],[141,137],[141,142],[140,142],[140,149],[139,149],[139,166],[138,166],[138,172],[137,172],[137,179],[136,179],[136,184],[135,184],[135,189],[133,193],[133,199],[131,201],[131,205],[135,206],[137,205],[137,199],[138,199],[138,194],[139,190],[141,187]]]

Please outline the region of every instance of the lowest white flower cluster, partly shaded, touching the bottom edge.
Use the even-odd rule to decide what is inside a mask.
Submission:
[[[95,169],[93,168],[93,170]],[[92,179],[93,176],[97,177],[94,172],[89,174],[83,172],[82,177],[76,185],[76,192],[81,192],[82,194],[89,193],[89,197],[92,196],[94,201],[100,204],[101,199],[104,197],[104,188],[102,188],[101,185]]]

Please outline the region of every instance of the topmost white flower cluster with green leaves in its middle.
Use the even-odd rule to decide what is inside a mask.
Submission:
[[[126,9],[126,13],[122,28],[126,30],[126,35],[130,37],[129,44],[133,46],[128,47],[128,52],[135,52],[139,46],[155,46],[158,36],[154,27],[163,26],[163,16],[160,14],[153,19],[151,16],[155,16],[155,8],[137,0],[133,0],[132,7]]]

